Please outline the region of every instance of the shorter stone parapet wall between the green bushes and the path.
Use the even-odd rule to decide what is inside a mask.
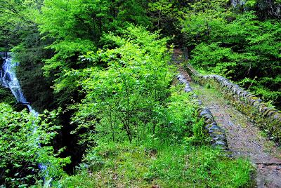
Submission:
[[[185,85],[184,91],[186,93],[192,93],[192,98],[195,100],[195,103],[199,107],[198,114],[200,118],[204,119],[205,129],[211,137],[211,144],[215,147],[228,149],[228,144],[226,142],[226,134],[224,133],[223,129],[219,127],[216,123],[214,116],[211,114],[211,111],[207,107],[204,107],[202,101],[198,99],[198,96],[193,92],[185,76],[179,74],[177,76],[177,79],[181,84]]]

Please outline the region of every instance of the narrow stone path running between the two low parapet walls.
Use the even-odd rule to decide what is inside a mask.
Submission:
[[[178,72],[188,79],[203,105],[210,109],[218,126],[226,131],[228,147],[233,157],[245,157],[254,164],[257,187],[281,187],[280,148],[275,147],[247,116],[230,105],[218,90],[192,82],[180,65],[181,55],[181,51],[175,50],[173,60],[179,67]]]

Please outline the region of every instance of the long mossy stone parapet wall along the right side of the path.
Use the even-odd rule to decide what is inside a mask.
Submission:
[[[185,69],[197,83],[209,84],[218,90],[233,103],[240,112],[254,120],[257,126],[264,130],[271,140],[281,142],[281,114],[273,107],[268,107],[261,99],[256,98],[248,91],[223,76],[199,74],[191,65],[185,65]]]

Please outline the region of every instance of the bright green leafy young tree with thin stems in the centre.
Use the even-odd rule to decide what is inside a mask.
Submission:
[[[105,38],[118,48],[83,57],[95,65],[105,63],[106,69],[91,67],[67,73],[82,78],[78,84],[86,98],[78,105],[79,112],[73,121],[89,128],[88,140],[95,140],[95,135],[99,139],[110,135],[112,140],[123,140],[126,135],[131,142],[133,137],[141,139],[145,135],[146,124],[166,99],[173,76],[167,64],[167,39],[158,37],[159,34],[147,32],[144,27],[129,27],[122,37],[107,35]],[[56,88],[65,86],[58,84]]]

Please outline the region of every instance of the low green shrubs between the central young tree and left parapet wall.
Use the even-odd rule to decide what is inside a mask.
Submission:
[[[171,87],[171,95],[167,99],[166,107],[157,108],[156,137],[163,142],[183,142],[202,144],[205,140],[202,130],[203,122],[197,119],[197,106],[194,105],[189,93],[185,93],[180,86]]]

